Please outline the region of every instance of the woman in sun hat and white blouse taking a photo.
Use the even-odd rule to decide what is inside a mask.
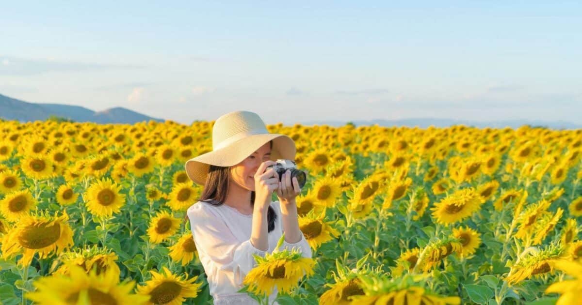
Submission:
[[[276,159],[294,160],[295,153],[293,139],[269,133],[256,113],[237,111],[215,121],[212,151],[186,162],[188,177],[204,185],[187,216],[214,304],[257,304],[237,291],[256,265],[253,254],[272,252],[283,231],[282,249],[311,257],[297,221],[299,184],[289,171],[279,181],[267,168]],[[279,200],[272,202],[275,191]],[[269,304],[276,295],[275,289]]]

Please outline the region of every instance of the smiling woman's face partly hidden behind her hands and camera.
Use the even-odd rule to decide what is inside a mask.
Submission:
[[[254,191],[254,174],[261,163],[271,160],[271,144],[262,145],[256,152],[246,157],[242,162],[230,167],[230,180],[236,184]]]

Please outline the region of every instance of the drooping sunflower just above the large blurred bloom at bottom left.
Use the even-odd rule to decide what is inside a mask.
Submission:
[[[87,273],[95,270],[95,274],[100,275],[104,272],[113,272],[115,278],[119,278],[120,270],[116,261],[117,254],[104,247],[85,247],[72,252],[63,252],[59,257],[62,265],[54,272],[55,274],[69,275],[70,264],[83,267]]]

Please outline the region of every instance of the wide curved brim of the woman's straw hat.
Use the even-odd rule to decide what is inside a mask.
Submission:
[[[186,161],[186,174],[192,181],[204,185],[211,165],[229,167],[239,164],[271,140],[271,160],[295,159],[297,148],[292,138],[283,134],[256,134]]]

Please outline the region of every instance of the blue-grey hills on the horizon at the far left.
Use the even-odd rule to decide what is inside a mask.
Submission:
[[[0,118],[21,122],[46,120],[50,116],[65,117],[76,122],[99,124],[134,124],[141,121],[159,121],[123,107],[114,107],[95,112],[81,106],[63,104],[29,103],[0,94]]]

